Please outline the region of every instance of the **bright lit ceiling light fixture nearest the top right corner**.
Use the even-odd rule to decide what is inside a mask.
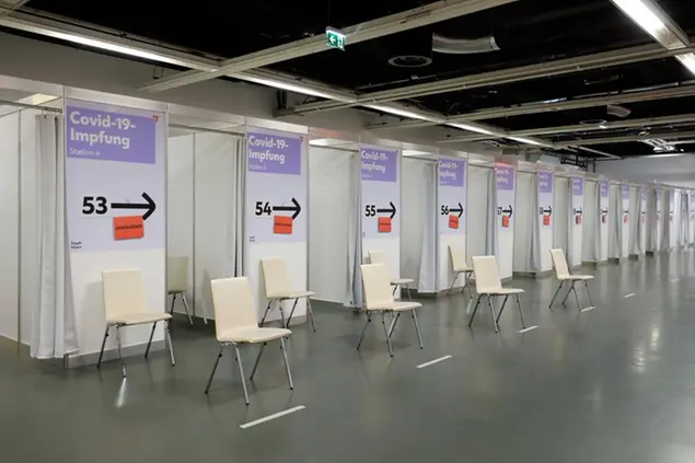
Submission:
[[[683,37],[682,32],[675,25],[664,21],[664,14],[651,0],[611,1],[665,49],[674,50],[687,46],[686,42],[681,38]]]

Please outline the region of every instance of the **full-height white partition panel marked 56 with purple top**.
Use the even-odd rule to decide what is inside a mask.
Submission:
[[[441,291],[451,285],[454,278],[452,271],[449,247],[454,246],[466,253],[466,192],[467,162],[465,159],[440,158],[439,159],[439,189],[437,215],[438,220],[438,281],[437,290]],[[476,195],[477,200],[480,197]],[[467,256],[467,253],[465,254]],[[471,265],[471,259],[468,259]],[[463,278],[456,279],[455,287],[464,283]]]

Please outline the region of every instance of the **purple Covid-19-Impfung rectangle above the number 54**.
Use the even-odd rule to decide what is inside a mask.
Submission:
[[[246,135],[248,147],[248,171],[264,174],[302,174],[301,136],[282,136],[250,131]]]

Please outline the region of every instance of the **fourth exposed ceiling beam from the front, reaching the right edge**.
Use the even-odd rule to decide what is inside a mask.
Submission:
[[[508,135],[511,137],[529,137],[536,135],[553,135],[553,134],[574,134],[580,131],[600,131],[600,130],[614,130],[622,128],[634,128],[634,127],[649,127],[649,126],[663,126],[670,124],[682,124],[682,123],[693,123],[695,121],[695,113],[691,114],[681,114],[677,116],[665,116],[665,117],[648,117],[644,119],[632,119],[632,120],[618,120],[615,123],[605,123],[605,124],[575,124],[568,126],[556,126],[556,127],[542,127],[534,128],[528,130],[513,130]],[[441,140],[440,143],[457,143],[462,141],[482,141],[482,140],[494,140],[499,137],[495,136],[486,136],[486,135],[470,135],[462,137],[449,137],[445,140]]]

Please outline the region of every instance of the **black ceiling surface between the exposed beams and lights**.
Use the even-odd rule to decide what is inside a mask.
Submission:
[[[695,1],[657,1],[685,35],[695,35]],[[229,59],[312,36],[323,37],[326,26],[344,28],[431,3],[435,2],[256,0],[204,1],[197,8],[172,8],[171,2],[153,0],[143,8],[142,2],[135,0],[30,0],[20,11],[38,15],[51,13],[127,35],[171,44],[198,56]],[[480,39],[467,45],[479,49],[471,54],[435,53],[432,34],[453,39]],[[489,47],[489,37],[494,37],[498,50],[483,50],[485,44]],[[270,63],[265,69],[311,79],[369,99],[371,95],[379,95],[374,92],[414,84],[442,82],[530,65],[553,65],[558,60],[598,53],[655,45],[652,37],[610,0],[519,0],[352,45],[348,36],[345,51],[327,49]],[[430,92],[397,99],[397,103],[449,118],[465,119],[480,114],[482,117],[474,120],[506,132],[586,125],[586,130],[575,128],[569,132],[540,134],[537,137],[564,144],[579,139],[590,140],[591,144],[588,147],[591,149],[619,157],[646,155],[658,151],[655,151],[652,144],[641,141],[594,143],[595,139],[629,136],[658,138],[674,131],[695,131],[695,115],[677,123],[659,121],[668,116],[695,113],[695,90],[692,95],[679,97],[659,96],[640,101],[638,96],[634,101],[619,104],[629,113],[621,116],[610,115],[605,103],[561,111],[553,106],[561,102],[606,95],[649,93],[687,85],[694,85],[695,89],[695,76],[671,57],[593,67],[586,71],[574,69],[559,76],[517,80],[499,84],[477,84],[464,90]],[[323,99],[309,99],[306,103],[314,101],[322,102]],[[490,108],[516,108],[541,102],[545,102],[548,108],[523,115],[484,116]],[[293,107],[280,109],[285,109],[285,113],[297,111]],[[639,119],[651,120],[640,125]],[[404,120],[404,127],[407,127],[408,119]],[[622,127],[625,123],[629,125],[632,120],[638,120],[637,126]],[[615,125],[618,127],[614,127]],[[484,138],[479,132],[456,128],[450,128],[450,136],[477,137],[476,141],[483,141],[479,139]],[[519,144],[509,137],[497,138],[484,142]],[[677,143],[675,149],[695,150],[695,136],[684,139],[693,142]],[[581,153],[590,158],[599,155],[589,151]]]

